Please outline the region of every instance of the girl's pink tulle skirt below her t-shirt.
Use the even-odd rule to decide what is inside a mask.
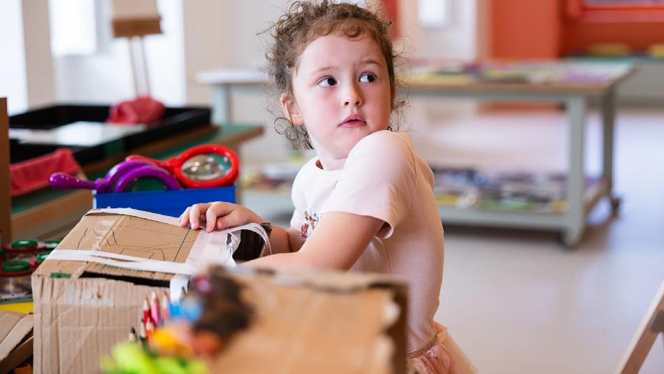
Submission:
[[[468,356],[456,345],[447,328],[436,323],[437,342],[433,347],[412,359],[412,366],[421,374],[470,374],[477,373]]]

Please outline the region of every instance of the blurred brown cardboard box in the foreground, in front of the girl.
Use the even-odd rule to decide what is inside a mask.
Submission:
[[[210,373],[405,373],[404,282],[359,273],[218,267],[252,308]]]

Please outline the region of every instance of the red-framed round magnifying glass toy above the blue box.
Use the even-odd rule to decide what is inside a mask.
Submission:
[[[222,145],[205,144],[189,148],[179,157],[158,161],[132,154],[127,160],[150,161],[171,171],[185,188],[229,186],[238,178],[238,155]]]

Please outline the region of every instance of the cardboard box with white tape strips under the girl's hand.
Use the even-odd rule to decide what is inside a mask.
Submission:
[[[98,372],[100,358],[138,326],[147,295],[179,291],[187,277],[174,273],[230,256],[227,233],[177,221],[129,209],[82,217],[32,275],[35,373]]]

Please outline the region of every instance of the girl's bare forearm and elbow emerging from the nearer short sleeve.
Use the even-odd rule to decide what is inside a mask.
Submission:
[[[261,257],[247,261],[243,266],[347,271],[383,224],[382,220],[366,215],[328,212],[298,251]],[[296,230],[292,231],[297,233]]]

